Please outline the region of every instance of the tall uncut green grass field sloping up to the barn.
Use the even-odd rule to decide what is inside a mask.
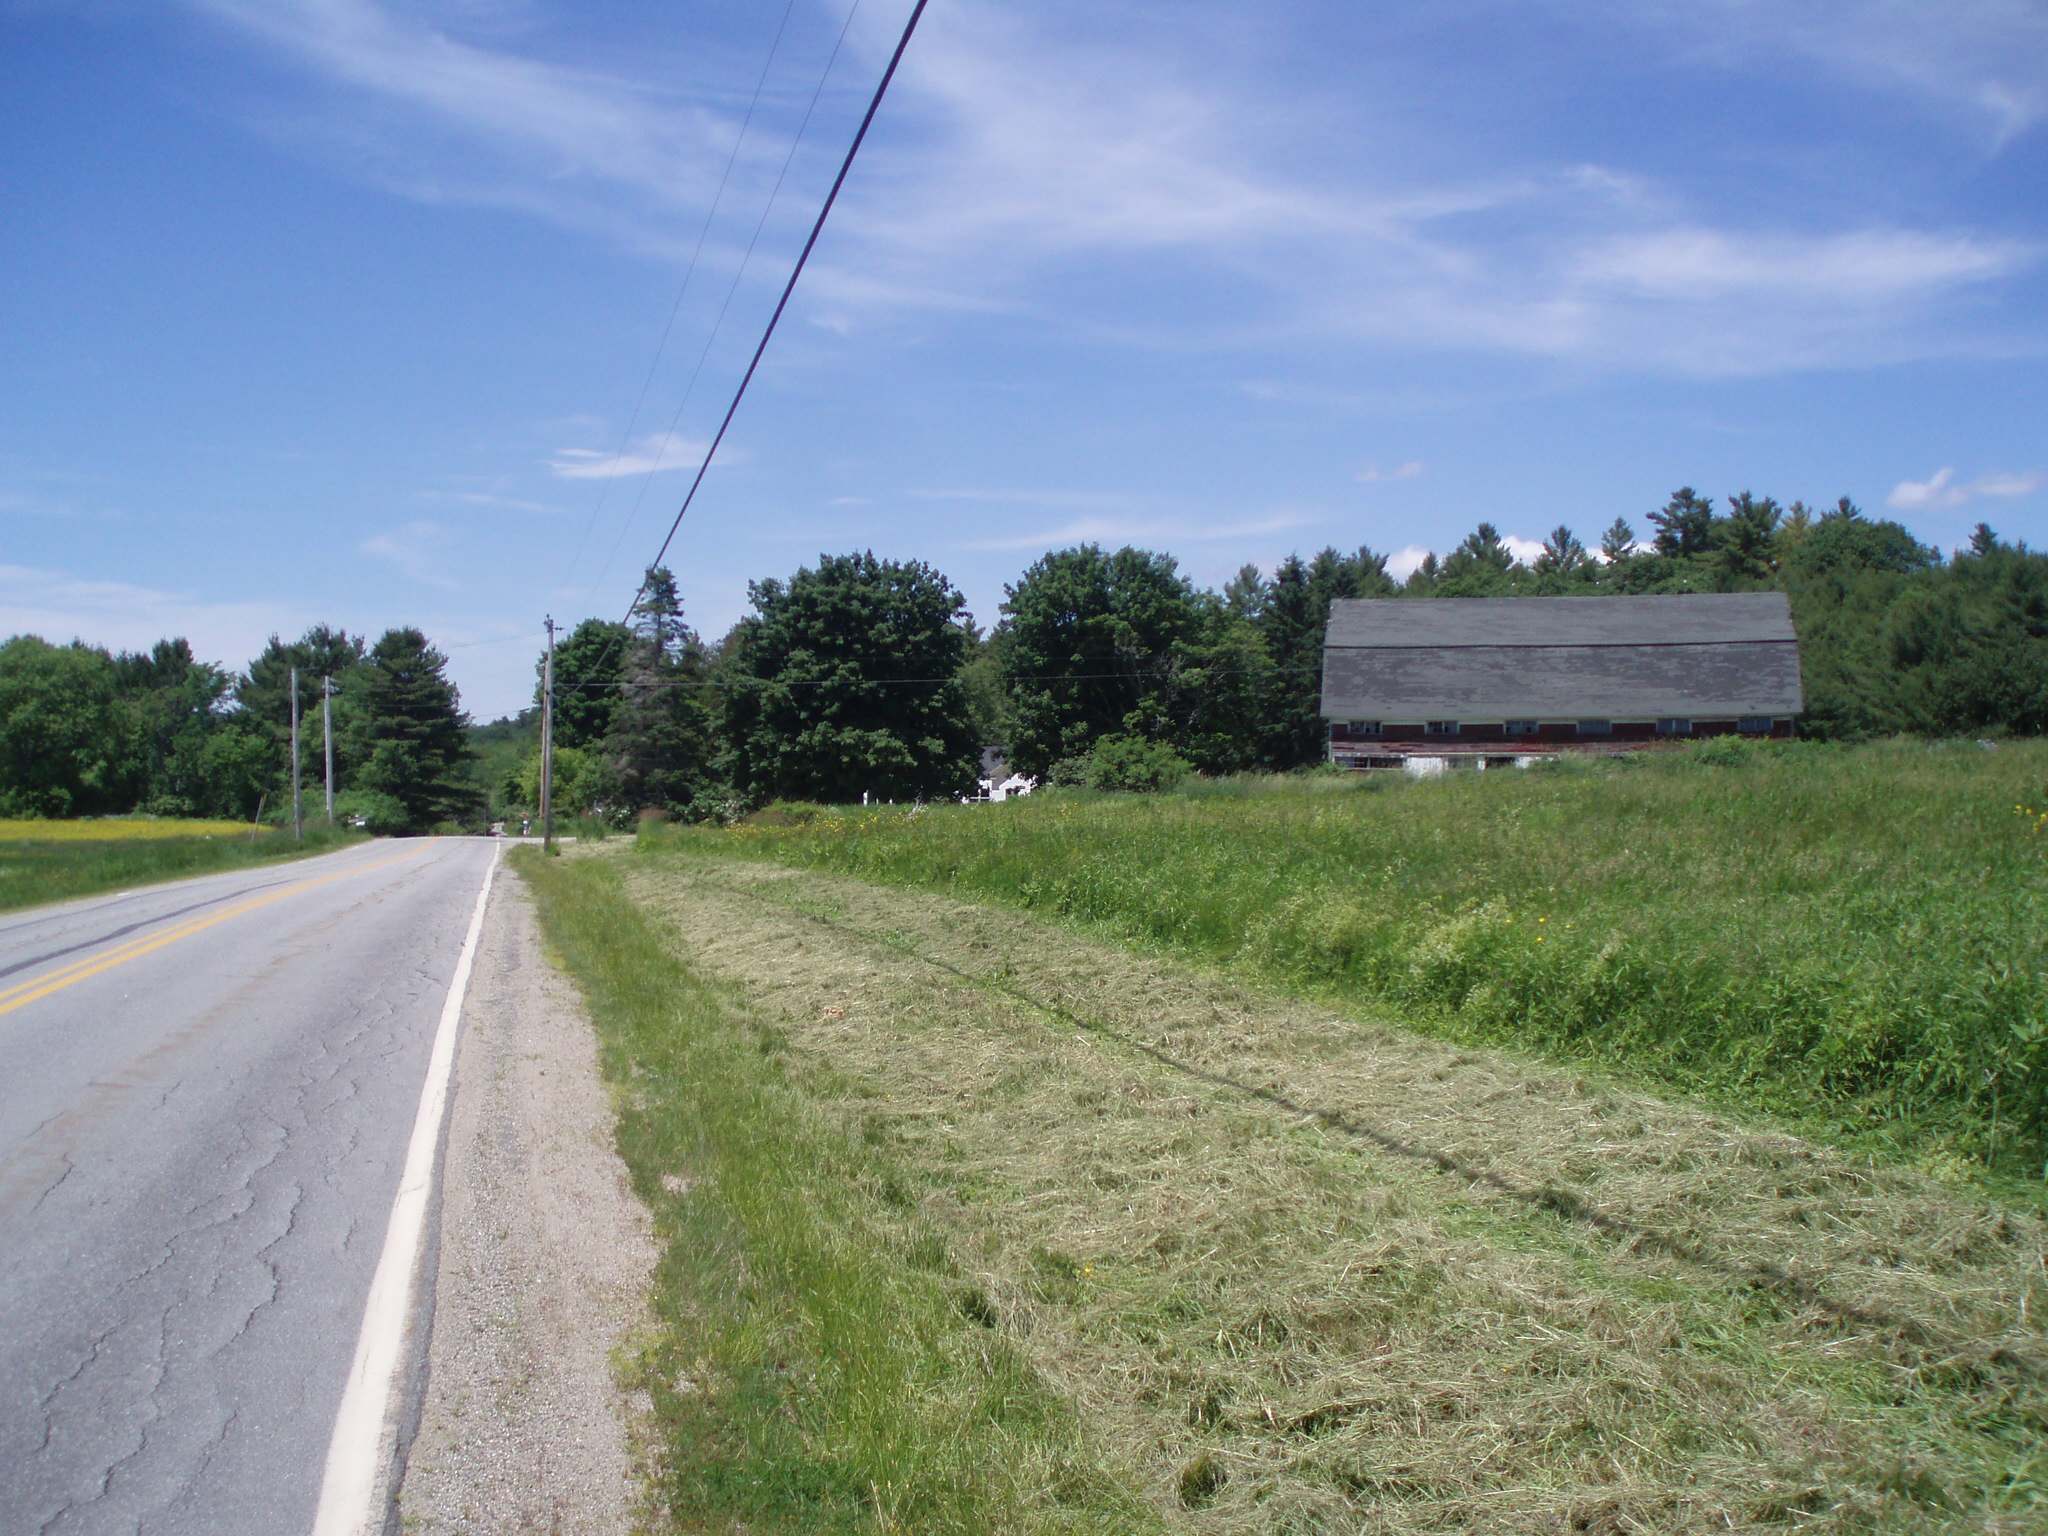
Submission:
[[[1712,743],[852,809],[651,846],[1010,901],[1874,1153],[2040,1180],[2044,805],[2048,743]]]

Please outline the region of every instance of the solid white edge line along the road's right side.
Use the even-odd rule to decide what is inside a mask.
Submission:
[[[385,1475],[393,1462],[397,1436],[397,1413],[393,1411],[397,1368],[412,1319],[428,1196],[434,1192],[440,1124],[449,1110],[449,1079],[455,1075],[455,1036],[463,1020],[469,973],[477,963],[483,907],[489,903],[492,879],[498,874],[498,854],[500,850],[492,848],[489,868],[483,870],[483,889],[477,891],[477,909],[469,915],[469,934],[455,961],[455,981],[449,983],[449,999],[440,1006],[434,1049],[426,1059],[426,1083],[420,1087],[420,1114],[412,1122],[412,1145],[406,1149],[406,1174],[399,1178],[397,1198],[391,1202],[383,1255],[377,1260],[369,1303],[362,1307],[356,1358],[348,1368],[340,1413],[334,1415],[334,1438],[328,1440],[328,1470],[319,1481],[313,1536],[367,1536],[385,1528],[383,1505],[389,1499]]]

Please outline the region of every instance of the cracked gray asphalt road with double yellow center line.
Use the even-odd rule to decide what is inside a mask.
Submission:
[[[0,920],[0,1534],[311,1528],[492,856]]]

